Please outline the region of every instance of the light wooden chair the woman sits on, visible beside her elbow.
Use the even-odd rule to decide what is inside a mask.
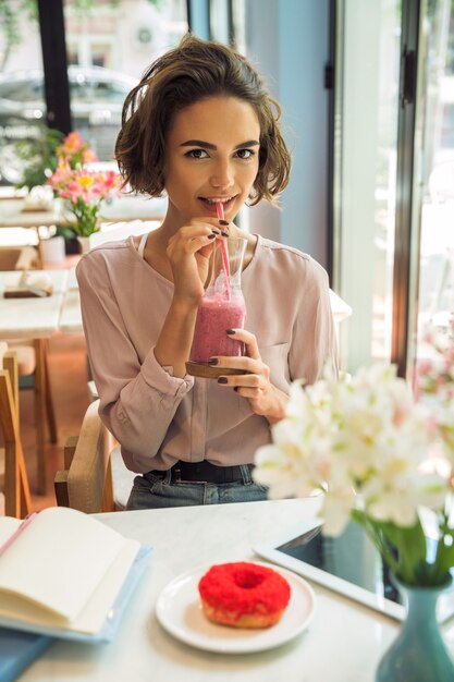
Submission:
[[[88,406],[78,437],[70,437],[64,447],[64,470],[54,477],[57,504],[88,514],[125,509],[135,476],[113,447],[98,409],[99,400]]]

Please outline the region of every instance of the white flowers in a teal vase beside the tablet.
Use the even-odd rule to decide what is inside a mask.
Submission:
[[[454,334],[440,349],[415,392],[380,363],[295,381],[273,442],[255,458],[269,498],[323,494],[324,535],[358,523],[405,594],[406,620],[377,682],[454,681],[435,619],[454,569]]]

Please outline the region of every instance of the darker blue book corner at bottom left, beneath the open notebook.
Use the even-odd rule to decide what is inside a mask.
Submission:
[[[0,628],[0,681],[16,680],[51,642],[47,635]]]

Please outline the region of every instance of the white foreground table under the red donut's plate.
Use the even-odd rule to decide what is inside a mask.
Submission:
[[[372,682],[397,624],[318,585],[309,629],[260,654],[192,648],[169,635],[155,616],[157,597],[172,579],[205,564],[257,560],[255,544],[311,515],[316,504],[281,500],[99,515],[125,536],[152,545],[150,570],[111,644],[57,642],[21,682]],[[454,653],[453,628],[445,638]]]

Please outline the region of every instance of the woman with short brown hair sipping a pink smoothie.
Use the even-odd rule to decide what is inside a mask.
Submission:
[[[116,159],[131,187],[168,195],[162,224],[105,244],[77,267],[100,416],[135,478],[128,509],[266,499],[256,449],[284,416],[290,382],[314,382],[336,344],[324,270],[309,256],[233,223],[248,199],[286,186],[280,108],[229,47],[183,38],[126,98]],[[222,203],[225,220],[216,204]],[[242,235],[246,370],[218,381],[186,374],[216,240]]]

